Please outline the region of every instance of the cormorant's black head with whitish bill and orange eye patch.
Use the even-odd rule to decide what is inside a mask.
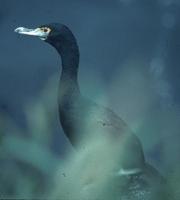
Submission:
[[[59,23],[41,25],[35,29],[18,27],[15,32],[23,35],[35,36],[51,44],[63,56],[63,63],[79,63],[79,48],[71,30]]]

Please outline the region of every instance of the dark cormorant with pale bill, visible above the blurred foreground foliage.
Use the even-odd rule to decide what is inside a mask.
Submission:
[[[118,159],[113,168],[116,175],[137,174],[147,169],[147,165],[151,168],[139,138],[126,122],[111,109],[82,95],[78,81],[80,53],[72,31],[64,24],[49,23],[35,29],[18,27],[15,32],[40,38],[53,46],[61,57],[58,111],[70,143],[77,150],[85,150],[98,142],[107,151],[111,151],[109,146],[113,147],[108,155]]]

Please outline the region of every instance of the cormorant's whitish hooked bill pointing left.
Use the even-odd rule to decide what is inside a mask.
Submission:
[[[31,35],[39,37],[41,40],[46,40],[49,33],[44,32],[40,28],[36,29],[29,29],[24,27],[18,27],[14,30],[16,33],[23,34],[23,35]]]

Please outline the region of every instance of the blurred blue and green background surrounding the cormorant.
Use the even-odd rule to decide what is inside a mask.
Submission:
[[[14,33],[49,22],[78,40],[82,93],[129,124],[162,174],[178,168],[180,1],[0,0],[1,196],[45,194],[74,151],[58,120],[58,54]]]

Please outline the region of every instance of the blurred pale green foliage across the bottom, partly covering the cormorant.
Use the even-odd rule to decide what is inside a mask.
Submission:
[[[51,148],[57,112],[53,86],[48,84],[39,99],[25,108],[26,133],[1,114],[0,198],[170,200],[175,194],[178,200],[179,169],[167,175],[168,192],[163,188],[153,196],[149,193],[159,190],[156,177],[145,173],[140,178],[119,178],[109,173],[119,152],[112,154],[113,145],[104,145],[102,140],[89,143],[78,153],[71,151],[66,158],[55,154]]]

